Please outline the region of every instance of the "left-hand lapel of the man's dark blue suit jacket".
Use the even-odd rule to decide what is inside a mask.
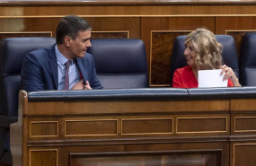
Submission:
[[[54,45],[51,48],[50,51],[50,55],[49,55],[49,66],[52,72],[52,76],[53,76],[53,81],[55,83],[55,87],[56,89],[58,88],[58,80],[57,80],[57,56],[56,56],[56,52],[55,52],[55,46]]]

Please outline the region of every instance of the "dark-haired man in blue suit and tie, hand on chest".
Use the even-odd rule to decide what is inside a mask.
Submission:
[[[92,55],[91,26],[83,18],[68,15],[57,25],[57,44],[26,55],[22,65],[22,89],[42,90],[100,89]]]

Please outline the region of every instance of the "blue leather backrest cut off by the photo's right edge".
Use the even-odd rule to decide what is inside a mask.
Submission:
[[[240,57],[242,85],[256,86],[256,33],[243,36]]]

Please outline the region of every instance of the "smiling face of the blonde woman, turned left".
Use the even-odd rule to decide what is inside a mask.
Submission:
[[[186,49],[184,51],[184,56],[187,59],[188,66],[195,66],[195,58],[197,57],[197,52],[192,44],[192,41],[189,41],[186,44]]]

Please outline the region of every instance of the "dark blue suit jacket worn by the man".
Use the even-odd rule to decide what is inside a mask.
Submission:
[[[93,89],[102,88],[91,54],[76,58],[77,65],[85,81]],[[40,48],[26,55],[22,64],[22,89],[27,92],[57,90],[57,56],[55,45],[51,48]]]

